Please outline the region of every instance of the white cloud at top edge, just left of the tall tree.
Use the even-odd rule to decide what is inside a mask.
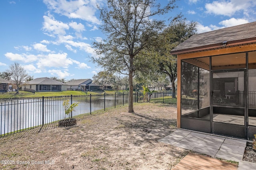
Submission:
[[[100,20],[96,18],[95,13],[97,11],[96,4],[100,5],[101,1],[103,0],[98,0],[97,2],[94,0],[44,0],[43,2],[57,14],[100,24]]]

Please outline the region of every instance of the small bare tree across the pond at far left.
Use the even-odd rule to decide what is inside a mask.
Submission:
[[[28,76],[26,70],[19,63],[14,63],[9,66],[6,72],[10,74],[10,77],[17,86],[17,93],[19,93],[20,84],[24,82]]]

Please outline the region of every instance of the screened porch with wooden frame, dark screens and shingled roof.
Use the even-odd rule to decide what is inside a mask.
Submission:
[[[256,22],[196,34],[178,59],[177,127],[252,140],[256,134]]]

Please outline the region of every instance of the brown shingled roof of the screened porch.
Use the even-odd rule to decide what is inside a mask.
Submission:
[[[226,41],[226,46],[224,42]],[[172,49],[171,54],[223,49],[256,43],[256,22],[192,35]]]

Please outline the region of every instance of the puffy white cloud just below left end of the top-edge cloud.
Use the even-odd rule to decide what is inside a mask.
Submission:
[[[51,37],[55,37],[55,35],[65,35],[65,29],[69,29],[68,24],[63,23],[62,21],[57,21],[52,16],[43,16],[43,31]]]

